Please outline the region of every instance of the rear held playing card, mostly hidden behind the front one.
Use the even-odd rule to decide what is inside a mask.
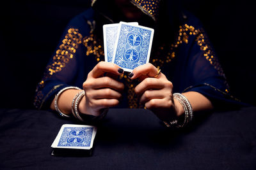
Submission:
[[[138,22],[129,22],[129,24],[139,25]],[[104,54],[106,62],[112,62],[113,60],[118,25],[119,24],[103,25]]]

